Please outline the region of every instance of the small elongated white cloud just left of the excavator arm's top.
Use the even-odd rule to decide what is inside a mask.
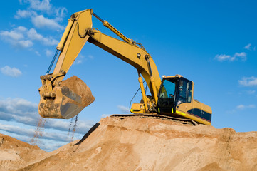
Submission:
[[[55,20],[53,19],[47,19],[43,15],[39,16],[32,16],[31,21],[36,28],[51,28],[51,29],[61,29],[63,30],[64,27],[58,24]]]

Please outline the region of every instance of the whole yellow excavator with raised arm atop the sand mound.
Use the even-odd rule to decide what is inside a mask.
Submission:
[[[93,16],[120,39],[107,36],[98,28],[93,28]],[[162,76],[161,79],[153,58],[144,46],[117,31],[110,23],[95,14],[93,9],[79,11],[70,16],[53,61],[46,75],[40,77],[42,86],[38,90],[41,97],[38,113],[43,118],[73,118],[95,100],[90,88],[79,78],[75,77],[72,81],[68,78],[63,81],[65,74],[87,41],[137,69],[142,100],[140,103],[131,105],[132,114],[113,115],[113,117],[143,115],[149,118],[167,118],[211,125],[211,108],[194,100],[193,81],[178,74]],[[53,73],[50,73],[54,63],[56,65]],[[142,77],[151,95],[146,95]]]

